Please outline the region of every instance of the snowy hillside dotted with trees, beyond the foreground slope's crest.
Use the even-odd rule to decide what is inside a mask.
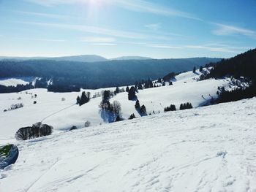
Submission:
[[[164,112],[164,108],[170,104],[179,105],[184,102],[191,102],[193,107],[198,107],[209,99],[216,96],[218,86],[227,85],[229,80],[203,80],[197,81],[200,72],[196,74],[186,72],[176,76],[173,85],[166,85],[159,88],[148,88],[137,93],[140,104],[146,106],[147,112],[155,113]],[[107,88],[108,89],[108,88]],[[109,88],[115,90],[115,88]],[[101,92],[105,89],[86,90],[91,95]],[[37,94],[37,98],[32,98]],[[80,93],[50,93],[46,89],[34,89],[23,91],[21,93],[0,94],[0,143],[5,139],[13,138],[18,128],[23,126],[31,126],[46,118],[43,123],[53,126],[54,130],[67,130],[71,126],[82,128],[86,120],[91,122],[91,126],[98,126],[105,122],[99,112],[99,104],[101,97],[91,99],[89,103],[79,107],[75,105],[77,96]],[[18,98],[21,98],[18,100]],[[65,101],[61,101],[64,98]],[[140,117],[135,110],[135,101],[129,101],[127,93],[118,93],[112,101],[121,103],[121,112],[124,119],[135,113],[136,117]],[[33,104],[37,101],[37,104]],[[18,110],[3,112],[12,104],[23,103],[24,107]],[[57,112],[57,113],[56,113]]]

